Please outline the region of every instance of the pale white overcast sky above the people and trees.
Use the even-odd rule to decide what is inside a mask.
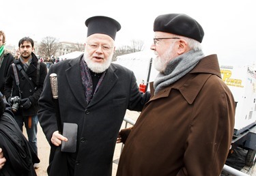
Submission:
[[[183,13],[195,18],[205,32],[202,46],[206,55],[216,53],[221,64],[251,64],[256,60],[256,5],[253,0],[3,0],[0,30],[6,43],[18,47],[25,36],[40,42],[51,36],[59,42],[84,43],[85,20],[103,15],[122,25],[116,44],[143,40],[153,42],[153,23],[160,14]]]

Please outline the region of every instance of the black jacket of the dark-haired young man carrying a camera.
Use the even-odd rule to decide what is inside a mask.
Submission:
[[[44,79],[47,74],[47,68],[45,63],[40,62],[40,81],[37,85],[37,65],[38,65],[38,58],[35,56],[34,53],[32,53],[32,62],[29,65],[29,68],[26,72],[27,76],[29,76],[29,79],[33,82],[34,87],[29,84],[29,81],[23,76],[23,74],[16,69],[18,72],[18,78],[20,82],[20,93],[18,92],[18,86],[16,85],[16,80],[14,77],[14,70],[12,68],[12,65],[10,65],[10,69],[8,71],[8,76],[6,78],[5,82],[5,97],[8,99],[10,96],[18,96],[21,99],[23,98],[29,98],[31,101],[31,106],[28,109],[18,108],[18,111],[15,115],[23,115],[23,116],[31,116],[36,115],[38,113],[38,99],[40,98],[40,94],[42,93],[42,88],[44,85]],[[16,60],[14,62],[15,64],[20,64],[23,68],[23,64],[20,62],[20,59]],[[12,89],[13,86],[13,89]],[[35,89],[36,87],[36,89]],[[12,94],[11,94],[12,93]]]

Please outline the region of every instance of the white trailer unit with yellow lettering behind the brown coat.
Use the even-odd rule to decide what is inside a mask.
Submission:
[[[256,72],[254,65],[221,65],[221,76],[236,102],[235,127],[231,151],[247,150],[246,166],[256,161]]]

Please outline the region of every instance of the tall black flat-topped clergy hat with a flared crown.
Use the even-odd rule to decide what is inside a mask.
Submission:
[[[121,25],[107,16],[93,16],[85,20],[87,29],[87,37],[94,33],[103,33],[109,35],[115,40],[115,34],[121,29]]]

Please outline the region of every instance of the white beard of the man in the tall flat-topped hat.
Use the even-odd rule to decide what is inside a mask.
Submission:
[[[109,55],[108,58],[106,58],[103,63],[97,63],[92,61],[89,58],[89,55],[87,53],[85,53],[85,62],[87,63],[88,68],[95,73],[102,73],[104,72],[106,69],[109,68],[109,65],[111,64],[111,59],[113,57],[113,53],[111,55]]]

